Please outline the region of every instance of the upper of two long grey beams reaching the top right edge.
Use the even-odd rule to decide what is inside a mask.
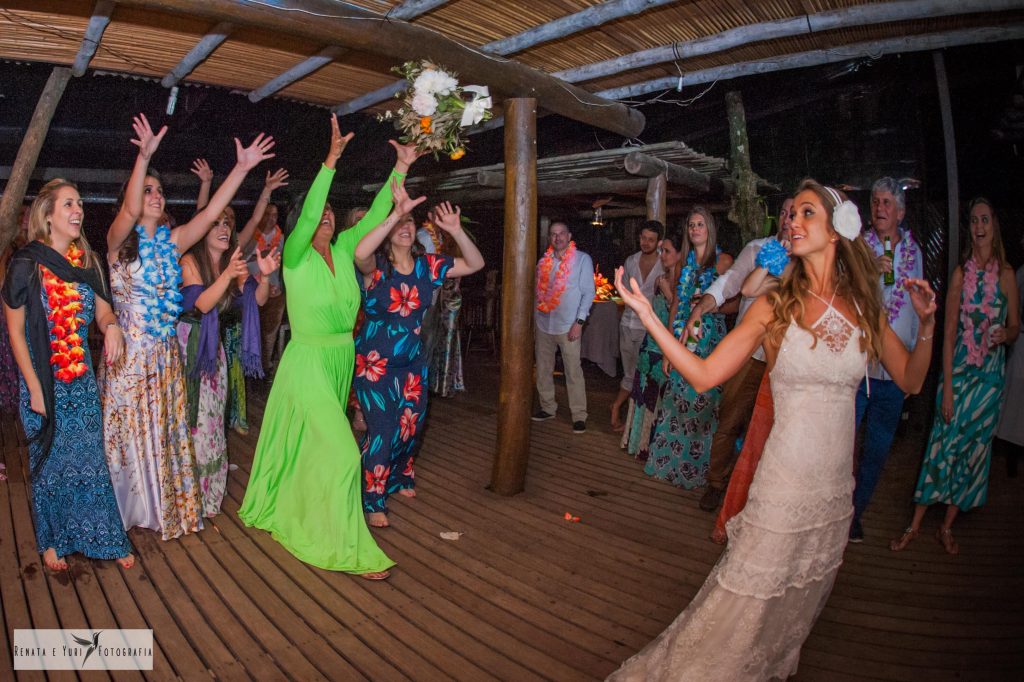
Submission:
[[[553,75],[567,83],[583,83],[635,69],[705,56],[766,40],[793,38],[837,29],[893,22],[913,22],[938,16],[1000,12],[1020,8],[1020,0],[902,0],[901,2],[855,5],[827,12],[802,14],[791,18],[741,26],[713,36],[652,47],[603,61],[559,71]]]

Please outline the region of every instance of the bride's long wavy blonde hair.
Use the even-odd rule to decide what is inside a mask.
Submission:
[[[808,178],[800,183],[800,188],[797,189],[794,197],[805,190],[813,191],[825,208],[828,227],[835,232],[838,240],[836,243],[836,294],[853,304],[857,326],[863,332],[860,337],[860,349],[867,353],[868,359],[877,360],[882,357],[884,308],[874,254],[860,237],[848,240],[835,231],[833,211],[836,210],[837,203],[823,185]],[[846,200],[845,196],[843,200]],[[811,328],[804,318],[806,313],[804,299],[807,292],[810,291],[810,286],[811,280],[804,267],[803,259],[795,258],[793,270],[782,279],[778,289],[770,294],[769,300],[774,315],[767,329],[769,343],[776,347],[779,346],[782,343],[785,330],[793,322],[811,332]],[[813,334],[813,332],[811,333]]]

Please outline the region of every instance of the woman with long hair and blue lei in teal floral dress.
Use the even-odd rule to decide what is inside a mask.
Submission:
[[[717,243],[715,219],[708,209],[694,207],[686,218],[685,264],[670,313],[673,332],[680,340],[684,340],[693,301],[699,300],[711,283],[732,265],[732,258],[720,253]],[[700,319],[700,331],[694,352],[707,357],[725,336],[724,315],[706,314]],[[686,489],[703,485],[711,458],[711,439],[718,428],[721,397],[721,386],[698,393],[682,375],[672,370],[655,418],[644,471]]]

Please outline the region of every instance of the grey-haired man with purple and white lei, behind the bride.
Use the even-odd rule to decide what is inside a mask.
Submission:
[[[907,347],[912,350],[918,343],[918,314],[910,305],[910,295],[903,282],[907,278],[924,276],[924,253],[909,229],[900,229],[906,214],[906,199],[903,187],[891,177],[884,177],[871,185],[871,228],[863,233],[864,241],[878,258],[882,272],[882,299],[886,304],[889,326]],[[886,255],[885,242],[889,240],[893,249],[892,257]],[[891,273],[893,283],[886,284],[886,274]],[[857,482],[853,492],[853,523],[850,525],[850,542],[864,540],[864,529],[860,523],[861,514],[871,500],[874,486],[882,475],[882,468],[889,457],[900,416],[903,414],[905,397],[896,382],[878,363],[868,369],[868,380],[860,382],[857,391],[857,428],[864,422],[863,450],[857,466]],[[870,395],[867,391],[870,381]]]

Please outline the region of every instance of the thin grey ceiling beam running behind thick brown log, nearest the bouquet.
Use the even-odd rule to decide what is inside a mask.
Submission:
[[[488,54],[506,55],[521,52],[524,49],[541,43],[558,40],[572,34],[594,29],[623,16],[632,16],[651,7],[676,2],[677,0],[606,0],[597,5],[587,7],[572,14],[561,16],[547,24],[534,27],[527,31],[495,40],[479,49]],[[379,104],[395,96],[407,87],[406,81],[395,81],[351,99],[335,108],[338,116],[354,114],[360,110]]]

